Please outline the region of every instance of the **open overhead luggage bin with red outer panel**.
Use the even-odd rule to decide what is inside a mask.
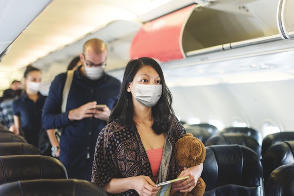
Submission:
[[[231,43],[278,34],[274,17],[270,25],[261,25],[254,6],[237,3],[218,0],[207,7],[193,4],[144,23],[132,41],[130,58],[148,56],[169,62],[184,59],[192,51],[212,47],[214,52],[228,50]],[[276,4],[271,6],[276,11]]]

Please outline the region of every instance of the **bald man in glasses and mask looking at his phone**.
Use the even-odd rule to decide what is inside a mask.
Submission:
[[[88,40],[80,60],[83,65],[74,71],[66,111],[61,112],[67,77],[62,73],[51,83],[42,123],[47,130],[63,130],[56,147],[68,177],[90,181],[97,137],[118,100],[121,82],[104,71],[107,49],[103,41]]]

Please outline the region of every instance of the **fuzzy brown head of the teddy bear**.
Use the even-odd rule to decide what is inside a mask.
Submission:
[[[190,133],[186,133],[176,142],[174,152],[180,167],[189,168],[199,165],[205,159],[205,146]]]

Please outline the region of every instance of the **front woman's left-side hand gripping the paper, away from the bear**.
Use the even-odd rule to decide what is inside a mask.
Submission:
[[[159,187],[155,187],[155,183],[149,176],[139,175],[131,178],[134,190],[136,190],[140,196],[155,196],[160,189]]]

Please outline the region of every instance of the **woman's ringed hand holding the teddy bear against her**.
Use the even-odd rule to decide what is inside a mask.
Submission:
[[[189,176],[188,179],[174,182],[172,184],[172,188],[175,191],[180,191],[181,193],[187,193],[190,192],[197,183],[198,178],[200,177],[203,170],[203,164],[187,168],[186,170],[183,170],[181,174],[178,176],[178,178],[183,176]]]

